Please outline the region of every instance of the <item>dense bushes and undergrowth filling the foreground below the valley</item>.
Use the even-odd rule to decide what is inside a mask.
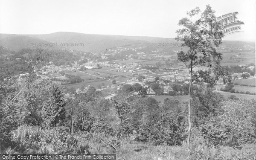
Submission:
[[[90,88],[1,76],[1,153],[115,153],[118,159],[225,160],[256,155],[256,101],[225,99],[201,86],[192,93],[191,151],[185,145],[187,103],[132,96],[111,101]],[[3,94],[6,93],[6,94]]]

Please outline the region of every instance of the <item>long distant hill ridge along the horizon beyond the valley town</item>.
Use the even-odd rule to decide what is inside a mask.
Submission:
[[[9,50],[19,50],[23,48],[39,48],[30,46],[30,43],[57,43],[56,47],[42,47],[47,49],[70,49],[84,52],[102,53],[106,49],[126,46],[155,46],[157,43],[177,43],[174,38],[157,38],[142,36],[123,36],[123,35],[90,35],[75,32],[55,32],[44,35],[14,35],[0,34],[0,46]],[[62,45],[59,46],[59,43]],[[77,43],[77,45],[76,45]],[[69,44],[67,46],[65,44]],[[73,45],[72,45],[73,44]],[[79,46],[80,44],[80,46]],[[83,44],[83,45],[82,45]],[[254,42],[244,41],[223,41],[226,47],[241,47],[244,45],[253,45]],[[171,48],[170,48],[171,49]],[[177,50],[177,48],[172,48]],[[179,49],[178,49],[179,50]]]

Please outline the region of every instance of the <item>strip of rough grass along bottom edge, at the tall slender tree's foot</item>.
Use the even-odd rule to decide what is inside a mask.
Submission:
[[[228,146],[217,148],[206,148],[205,146],[196,145],[192,147],[192,154],[200,160],[206,160],[207,157],[218,157],[218,154],[226,158],[238,158],[240,155],[247,156],[248,159],[253,157],[251,152],[255,152],[256,145],[242,145],[242,149],[233,149]],[[248,154],[249,153],[249,154]],[[215,156],[214,156],[215,155]],[[236,156],[238,157],[236,157]],[[205,157],[204,157],[205,156]],[[192,156],[189,154],[186,146],[168,146],[168,145],[150,145],[146,143],[128,143],[119,148],[116,154],[117,160],[189,160]],[[205,159],[201,159],[205,158]],[[198,159],[199,160],[199,159]],[[216,159],[217,160],[217,159]],[[219,156],[218,160],[222,160]]]

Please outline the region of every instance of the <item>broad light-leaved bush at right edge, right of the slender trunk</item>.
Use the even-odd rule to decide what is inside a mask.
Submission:
[[[256,142],[256,101],[230,99],[221,103],[218,116],[201,125],[210,145],[241,145]]]

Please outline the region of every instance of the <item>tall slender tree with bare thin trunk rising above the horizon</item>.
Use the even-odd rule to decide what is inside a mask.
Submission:
[[[224,73],[221,69],[220,62],[222,59],[222,54],[218,53],[215,47],[218,47],[221,44],[221,40],[223,37],[222,32],[219,27],[213,21],[215,20],[215,11],[207,5],[204,12],[201,14],[203,17],[201,20],[197,20],[196,22],[192,21],[192,17],[194,15],[199,14],[200,9],[196,7],[192,9],[190,12],[187,12],[187,15],[191,18],[191,20],[187,17],[182,18],[178,25],[182,26],[182,29],[178,29],[177,37],[175,38],[177,41],[182,41],[183,44],[181,47],[188,47],[188,51],[184,52],[183,50],[177,52],[177,59],[183,62],[186,65],[186,68],[189,69],[191,79],[189,81],[189,104],[188,104],[188,137],[187,144],[190,143],[190,134],[191,134],[191,90],[192,90],[192,82],[194,81],[193,75],[201,77],[205,82],[213,86],[215,84],[215,79],[218,78],[221,73]],[[205,28],[201,28],[202,20],[204,24],[209,24],[211,27],[209,30]],[[212,27],[216,26],[216,27]],[[200,30],[203,29],[203,30]],[[202,32],[204,31],[204,32]],[[215,79],[210,77],[204,72],[193,73],[193,68],[201,65],[207,66],[209,68],[213,67],[215,71]]]

